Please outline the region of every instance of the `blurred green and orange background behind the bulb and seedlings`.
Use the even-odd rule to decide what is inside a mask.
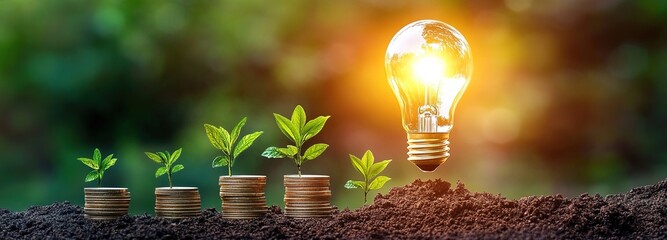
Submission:
[[[406,160],[384,53],[419,19],[451,24],[475,62],[451,158],[434,173]],[[306,174],[332,176],[333,203],[357,208],[348,154],[394,159],[380,192],[416,178],[461,180],[510,198],[627,191],[667,177],[666,1],[0,1],[0,208],[83,204],[76,160],[114,153],[105,186],[153,212],[159,167],[144,151],[183,147],[175,185],[220,208],[216,150],[203,124],[263,130],[237,174],[268,176],[282,205],[292,162],[272,113],[331,115],[310,141],[331,147]],[[373,192],[374,196],[375,193]]]

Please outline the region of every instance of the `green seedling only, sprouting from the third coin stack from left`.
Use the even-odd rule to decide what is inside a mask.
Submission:
[[[223,127],[215,127],[210,124],[204,124],[206,129],[206,136],[208,140],[211,141],[213,147],[222,151],[221,156],[215,157],[213,159],[212,167],[223,167],[227,166],[227,172],[229,176],[232,176],[232,167],[234,162],[236,162],[236,157],[239,156],[243,151],[248,149],[250,145],[260,136],[263,132],[254,132],[248,135],[245,135],[241,140],[236,144],[236,140],[241,134],[241,128],[245,125],[247,118],[241,119],[241,121],[236,124],[236,127],[232,129],[231,134],[224,129]]]

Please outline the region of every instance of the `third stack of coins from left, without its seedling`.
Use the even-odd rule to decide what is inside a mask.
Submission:
[[[219,184],[223,218],[251,219],[266,214],[266,176],[221,176]]]

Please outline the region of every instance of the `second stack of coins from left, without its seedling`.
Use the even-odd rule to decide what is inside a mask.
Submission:
[[[162,218],[189,218],[201,215],[199,189],[155,188],[155,215]]]

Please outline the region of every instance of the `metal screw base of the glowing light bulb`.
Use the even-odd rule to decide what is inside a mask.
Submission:
[[[408,133],[408,161],[433,172],[449,158],[449,133]]]

